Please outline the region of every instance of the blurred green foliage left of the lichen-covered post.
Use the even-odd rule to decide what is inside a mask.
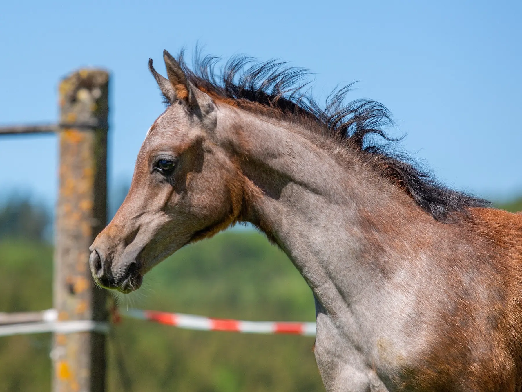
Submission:
[[[52,307],[52,249],[41,243],[0,241],[0,312]],[[51,338],[0,337],[0,391],[50,390]]]

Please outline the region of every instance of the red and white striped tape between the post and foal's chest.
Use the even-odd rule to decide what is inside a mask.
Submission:
[[[183,313],[156,312],[155,310],[121,310],[122,316],[159,322],[178,328],[200,331],[229,331],[242,333],[291,333],[315,336],[315,322],[243,321]]]

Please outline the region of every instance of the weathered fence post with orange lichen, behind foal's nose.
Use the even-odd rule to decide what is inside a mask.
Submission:
[[[56,333],[54,392],[105,388],[105,293],[93,287],[89,246],[106,223],[109,74],[84,69],[60,84],[60,191],[56,207],[54,307],[58,320],[93,320],[86,332]]]

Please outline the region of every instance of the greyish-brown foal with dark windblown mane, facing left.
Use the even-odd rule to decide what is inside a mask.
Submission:
[[[377,102],[321,110],[302,73],[164,52],[168,102],[131,189],[92,245],[94,279],[136,290],[182,246],[251,222],[316,298],[326,389],[522,390],[522,216],[438,185],[389,140]],[[369,137],[370,136],[370,137]]]

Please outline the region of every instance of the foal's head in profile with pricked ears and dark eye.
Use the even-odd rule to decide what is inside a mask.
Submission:
[[[169,106],[147,133],[125,201],[90,248],[94,279],[122,292],[185,244],[236,221],[243,198],[238,168],[213,143],[215,103],[163,54],[168,79],[152,60],[149,67]]]

